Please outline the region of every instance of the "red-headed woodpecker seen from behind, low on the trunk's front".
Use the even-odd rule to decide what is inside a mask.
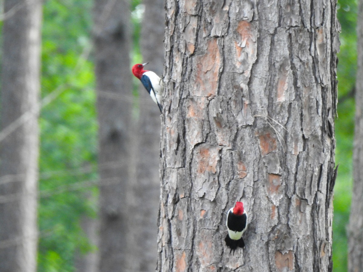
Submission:
[[[247,213],[243,209],[243,203],[236,202],[236,206],[229,209],[227,213],[226,226],[228,234],[224,239],[227,247],[231,248],[231,251],[233,250],[233,254],[237,247],[245,247],[242,234],[245,232],[247,224]]]

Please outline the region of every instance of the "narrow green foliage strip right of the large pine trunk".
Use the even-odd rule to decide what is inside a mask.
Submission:
[[[354,136],[354,86],[356,74],[357,1],[339,0],[342,26],[338,64],[338,116],[335,123],[338,177],[334,188],[333,270],[347,271],[347,233],[352,192],[352,149]]]

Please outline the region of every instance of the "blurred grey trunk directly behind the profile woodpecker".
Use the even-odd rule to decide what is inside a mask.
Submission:
[[[164,67],[164,0],[144,0],[141,53],[146,70],[161,75]],[[139,82],[138,82],[139,83]],[[157,260],[157,218],[160,201],[160,111],[139,83],[139,119],[135,130],[135,175],[129,194],[130,271],[154,271]]]

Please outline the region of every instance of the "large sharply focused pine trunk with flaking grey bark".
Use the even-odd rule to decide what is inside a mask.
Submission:
[[[335,5],[167,0],[159,271],[331,271]]]

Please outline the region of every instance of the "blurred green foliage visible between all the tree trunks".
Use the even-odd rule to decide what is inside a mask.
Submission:
[[[139,36],[144,8],[141,0],[132,0],[130,7],[133,39],[130,58],[134,64],[142,62]],[[334,271],[346,271],[357,1],[338,1],[337,9],[342,32],[338,55],[339,118],[335,131],[339,173],[334,190],[333,262]],[[92,11],[93,2],[87,0],[47,0],[43,5],[41,96],[44,98],[54,91],[60,95],[42,108],[39,120],[38,271],[75,271],[79,254],[97,251],[81,227],[83,218],[97,217],[94,199],[99,193]],[[136,120],[142,107],[137,99],[140,82],[134,79],[133,86],[132,116]],[[154,227],[156,233],[156,224]]]

